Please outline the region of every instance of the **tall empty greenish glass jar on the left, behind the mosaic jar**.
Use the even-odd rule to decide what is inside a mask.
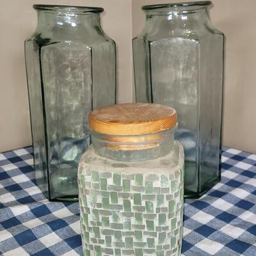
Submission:
[[[34,8],[25,54],[36,182],[49,200],[76,199],[88,114],[116,101],[115,42],[100,27],[102,8]]]

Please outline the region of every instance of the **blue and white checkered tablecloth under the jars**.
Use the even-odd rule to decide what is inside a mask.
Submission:
[[[223,148],[221,182],[185,202],[182,255],[255,256],[255,202],[256,155]],[[0,255],[82,255],[80,232],[78,203],[36,187],[31,147],[0,154]]]

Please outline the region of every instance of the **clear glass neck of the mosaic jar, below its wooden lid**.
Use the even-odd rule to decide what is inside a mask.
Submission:
[[[170,154],[175,128],[138,136],[118,136],[91,131],[92,144],[99,156],[116,161],[145,161]]]

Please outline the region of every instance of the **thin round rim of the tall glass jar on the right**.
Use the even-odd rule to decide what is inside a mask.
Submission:
[[[183,2],[183,3],[168,3],[168,4],[150,4],[141,7],[144,11],[162,9],[162,8],[184,8],[184,7],[205,7],[211,5],[211,1],[196,1],[196,2]]]

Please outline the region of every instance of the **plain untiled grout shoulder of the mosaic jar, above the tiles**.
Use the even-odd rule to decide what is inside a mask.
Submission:
[[[173,150],[170,154],[158,159],[147,161],[115,161],[95,154],[93,146],[81,157],[79,172],[83,170],[95,170],[101,172],[120,172],[120,173],[175,173],[182,169],[184,164],[184,152],[182,145],[174,141]]]

